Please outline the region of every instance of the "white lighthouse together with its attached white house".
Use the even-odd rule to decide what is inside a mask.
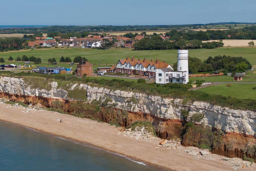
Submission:
[[[178,50],[177,60],[177,71],[172,68],[160,68],[156,71],[157,84],[188,83],[188,50]]]

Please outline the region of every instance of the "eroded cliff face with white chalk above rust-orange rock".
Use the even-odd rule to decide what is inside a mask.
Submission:
[[[159,137],[169,139],[173,136],[182,137],[186,131],[185,123],[192,120],[196,125],[224,131],[224,142],[215,146],[213,152],[229,157],[241,157],[245,150],[243,146],[256,143],[256,112],[253,111],[234,110],[202,101],[184,103],[182,99],[92,87],[88,84],[68,84],[60,87],[57,82],[52,81],[46,88],[36,86],[31,86],[24,78],[0,77],[0,91],[3,92],[0,96],[13,101],[41,103],[46,107],[52,107],[51,102],[57,99],[62,101],[65,111],[72,112],[68,103],[77,99],[68,93],[79,90],[85,92],[80,95],[86,97],[90,104],[100,101],[111,109],[93,116],[104,122],[115,120],[119,125],[128,126],[136,120],[147,120],[153,123]],[[187,111],[186,115],[184,111]],[[193,120],[193,116],[198,113],[202,118]],[[198,143],[199,137],[200,133],[191,132],[190,136],[184,136],[183,145],[194,145]],[[232,149],[228,148],[229,143],[234,144]]]

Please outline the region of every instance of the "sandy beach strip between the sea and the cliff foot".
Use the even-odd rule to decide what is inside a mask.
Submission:
[[[35,110],[27,112],[23,107],[0,104],[0,119],[36,130],[60,135],[69,139],[91,143],[97,147],[125,155],[147,165],[158,165],[166,170],[177,171],[231,171],[234,164],[224,161],[224,156],[211,154],[196,158],[184,152],[191,147],[167,149],[159,146],[160,139],[150,142],[124,136],[120,128],[107,123],[82,119],[67,114]],[[60,123],[59,119],[62,119]],[[231,159],[230,159],[231,160]],[[237,159],[239,160],[239,159]],[[255,164],[239,170],[256,170]]]

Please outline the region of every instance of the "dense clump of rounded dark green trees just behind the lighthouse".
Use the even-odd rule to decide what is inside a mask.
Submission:
[[[207,72],[207,71],[222,71],[228,72],[244,72],[252,68],[252,64],[243,57],[230,56],[215,56],[208,57],[205,61],[199,58],[189,57],[189,72]],[[177,63],[173,64],[177,68]]]

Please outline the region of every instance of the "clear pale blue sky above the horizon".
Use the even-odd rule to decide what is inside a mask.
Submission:
[[[256,22],[256,0],[1,0],[0,25]]]

